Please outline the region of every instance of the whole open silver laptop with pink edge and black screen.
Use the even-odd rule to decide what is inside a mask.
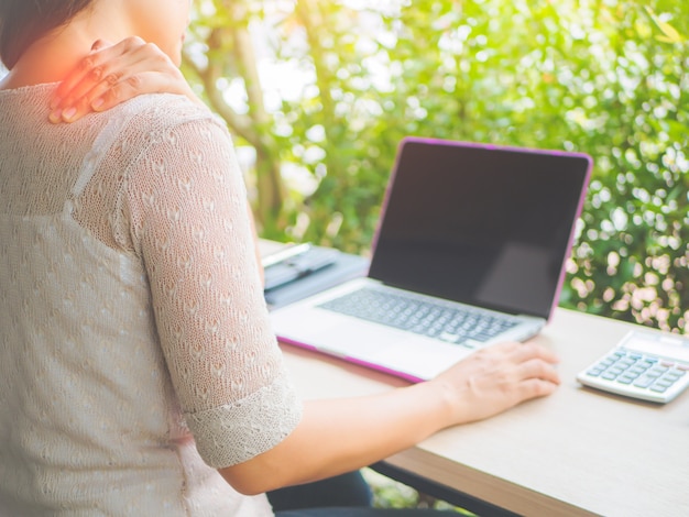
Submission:
[[[591,167],[582,153],[404,139],[367,275],[273,310],[275,333],[413,382],[537,334]]]

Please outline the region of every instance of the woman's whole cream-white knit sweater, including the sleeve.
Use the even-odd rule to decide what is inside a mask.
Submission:
[[[266,516],[215,468],[300,418],[226,129],[0,91],[0,516]],[[210,465],[210,466],[208,466]]]

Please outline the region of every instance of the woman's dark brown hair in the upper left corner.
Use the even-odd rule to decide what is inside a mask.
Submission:
[[[0,59],[11,69],[36,40],[94,0],[0,0]]]

